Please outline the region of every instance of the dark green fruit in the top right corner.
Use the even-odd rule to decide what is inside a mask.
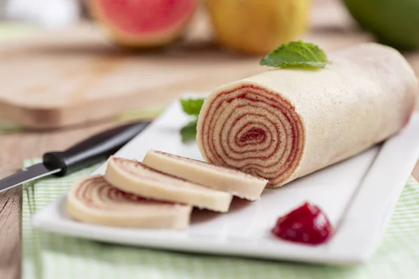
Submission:
[[[381,43],[398,49],[419,48],[419,0],[344,0],[360,27]]]

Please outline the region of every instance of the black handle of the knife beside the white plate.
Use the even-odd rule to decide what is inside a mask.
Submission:
[[[86,161],[112,155],[144,130],[149,123],[149,121],[142,121],[119,126],[89,137],[66,151],[45,153],[43,164],[47,169],[61,169],[61,172],[57,172],[55,175],[65,176],[78,169]]]

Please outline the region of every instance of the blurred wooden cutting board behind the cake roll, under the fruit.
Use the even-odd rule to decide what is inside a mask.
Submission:
[[[134,53],[112,45],[93,25],[0,43],[0,119],[29,128],[60,128],[168,103],[184,91],[261,73],[260,57],[212,43],[205,21],[167,49]],[[311,31],[326,51],[372,40],[363,33]]]

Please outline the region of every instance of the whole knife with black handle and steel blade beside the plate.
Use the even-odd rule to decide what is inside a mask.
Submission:
[[[86,163],[96,163],[104,156],[110,156],[144,130],[150,121],[130,123],[89,137],[71,146],[66,151],[53,151],[43,155],[43,162],[22,169],[0,180],[0,193],[22,183],[44,176],[65,176]]]

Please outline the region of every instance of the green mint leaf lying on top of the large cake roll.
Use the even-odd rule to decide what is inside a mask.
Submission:
[[[320,47],[302,40],[281,45],[260,60],[260,65],[274,68],[323,68],[327,63]]]

